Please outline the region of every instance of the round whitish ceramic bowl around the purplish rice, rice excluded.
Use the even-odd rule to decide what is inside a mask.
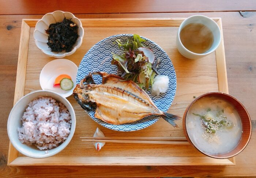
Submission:
[[[18,138],[18,127],[22,127],[22,121],[20,118],[23,116],[23,113],[25,112],[28,104],[30,101],[32,101],[34,98],[37,98],[38,96],[47,96],[47,97],[52,97],[55,100],[62,102],[67,108],[68,111],[70,112],[71,116],[71,128],[70,128],[70,133],[68,135],[68,138],[61,143],[58,147],[55,147],[53,149],[49,149],[49,152],[46,153],[45,150],[39,150],[35,146],[28,146],[25,143],[21,143],[19,138]],[[76,128],[76,116],[75,116],[75,111],[70,104],[70,102],[60,96],[58,93],[51,92],[51,91],[44,91],[44,90],[38,90],[35,92],[31,92],[25,96],[23,96],[12,108],[10,115],[8,117],[8,122],[7,122],[7,132],[9,139],[12,143],[12,145],[18,150],[20,153],[23,155],[29,156],[31,158],[47,158],[49,156],[53,156],[57,153],[59,153],[61,150],[63,150],[70,140],[72,139],[74,132]]]

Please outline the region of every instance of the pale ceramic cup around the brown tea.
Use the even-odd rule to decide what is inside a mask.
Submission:
[[[180,32],[181,32],[182,28],[191,23],[201,23],[201,24],[207,26],[212,31],[214,40],[213,40],[211,48],[208,51],[206,51],[205,53],[199,54],[199,53],[193,53],[192,51],[189,51],[187,48],[184,47],[184,45],[182,44],[182,42],[180,40]],[[178,51],[180,52],[181,55],[183,55],[184,57],[189,58],[189,59],[199,59],[199,58],[202,58],[202,57],[212,53],[213,51],[215,51],[217,49],[220,42],[221,42],[221,30],[219,29],[218,24],[216,22],[214,22],[214,20],[212,20],[211,18],[208,18],[203,15],[193,15],[193,16],[185,19],[180,24],[180,27],[178,29],[177,38],[176,38],[176,46],[177,46]]]

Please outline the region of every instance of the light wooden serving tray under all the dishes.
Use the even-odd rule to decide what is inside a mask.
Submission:
[[[33,32],[38,19],[23,19],[14,103],[34,90],[40,90],[39,74],[54,58],[47,57],[35,45]],[[177,74],[177,92],[169,113],[182,116],[194,99],[207,92],[228,93],[223,38],[215,53],[202,59],[184,58],[176,49],[178,26],[184,19],[81,19],[84,27],[82,46],[75,54],[65,57],[79,65],[84,54],[103,38],[116,34],[139,34],[159,44],[172,59]],[[214,18],[222,31],[220,18]],[[182,121],[173,128],[160,119],[152,126],[135,132],[118,132],[93,121],[68,97],[76,113],[76,131],[69,145],[50,158],[26,157],[10,143],[8,165],[234,165],[234,158],[214,159],[204,156],[191,145],[118,144],[106,143],[96,151],[92,143],[82,143],[80,136],[93,136],[99,127],[106,136],[184,136]]]

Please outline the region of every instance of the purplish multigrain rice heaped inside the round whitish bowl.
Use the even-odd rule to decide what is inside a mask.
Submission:
[[[40,150],[52,149],[67,139],[71,127],[68,109],[52,97],[39,96],[29,102],[18,128],[19,140]]]

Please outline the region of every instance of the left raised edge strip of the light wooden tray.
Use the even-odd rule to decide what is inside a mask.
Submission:
[[[29,49],[29,35],[30,27],[26,24],[26,22],[22,21],[14,104],[24,95],[25,77],[27,69],[27,53]],[[17,158],[18,153],[19,152],[12,146],[10,142],[8,152],[8,163],[12,162],[15,158]]]

